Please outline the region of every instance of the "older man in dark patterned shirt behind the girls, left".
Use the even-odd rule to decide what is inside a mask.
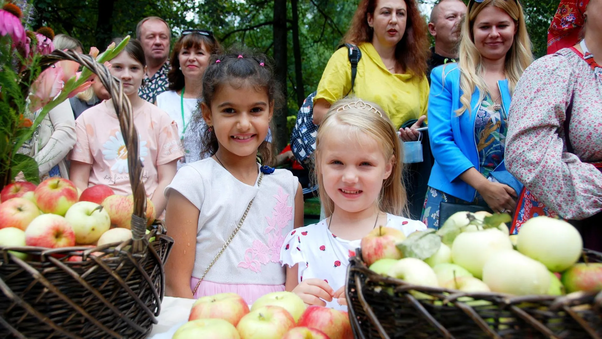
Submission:
[[[170,66],[169,43],[172,31],[167,22],[157,16],[149,16],[138,22],[136,37],[140,40],[146,57],[146,75],[140,87],[140,97],[155,103],[158,94],[167,90],[167,72]]]

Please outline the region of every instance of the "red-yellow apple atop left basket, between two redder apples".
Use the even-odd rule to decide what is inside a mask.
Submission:
[[[34,198],[40,211],[65,215],[67,210],[78,201],[78,192],[71,180],[50,178],[37,186]]]

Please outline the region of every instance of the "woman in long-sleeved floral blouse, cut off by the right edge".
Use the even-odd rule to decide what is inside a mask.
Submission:
[[[562,5],[562,4],[561,4]],[[576,8],[562,7],[566,14]],[[570,12],[570,13],[569,13]],[[559,11],[560,13],[560,11]],[[533,63],[514,92],[506,166],[572,221],[585,246],[602,249],[602,0],[585,11],[585,39]],[[568,129],[568,133],[567,133]]]

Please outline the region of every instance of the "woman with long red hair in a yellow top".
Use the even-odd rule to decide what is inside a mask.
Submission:
[[[426,115],[426,32],[416,0],[362,0],[343,39],[362,52],[353,95],[379,104],[397,128]],[[314,124],[319,125],[330,104],[351,90],[347,48],[340,48],[330,57],[318,84]]]

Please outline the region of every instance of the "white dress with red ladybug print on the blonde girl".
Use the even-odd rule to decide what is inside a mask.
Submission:
[[[299,282],[310,278],[323,279],[332,290],[337,291],[346,283],[349,256],[353,255],[349,249],[352,241],[331,233],[326,221],[324,219],[317,224],[288,232],[280,251],[280,262],[290,267],[299,264]],[[386,214],[386,227],[399,229],[406,236],[416,230],[426,230],[426,226],[420,221],[393,214]],[[326,306],[347,310],[347,306],[339,305],[336,299],[326,302]]]

